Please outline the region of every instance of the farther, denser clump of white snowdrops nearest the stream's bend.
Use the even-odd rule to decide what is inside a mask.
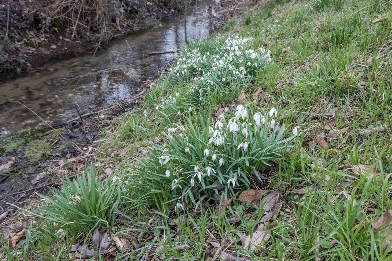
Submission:
[[[251,38],[232,36],[187,45],[166,79],[175,88],[167,89],[170,85],[165,81],[152,87],[156,109],[180,116],[199,105],[234,101],[271,62],[271,51],[248,48],[250,42]]]

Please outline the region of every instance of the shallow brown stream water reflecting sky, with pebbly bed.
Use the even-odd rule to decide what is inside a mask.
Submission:
[[[208,35],[213,20],[208,4],[194,7],[187,17],[188,40]],[[44,123],[31,108],[49,123],[64,122],[77,116],[74,104],[82,113],[132,95],[144,81],[156,78],[158,70],[174,59],[184,43],[184,17],[161,21],[144,33],[113,41],[109,47],[92,54],[51,62],[43,70],[0,86],[0,136]]]

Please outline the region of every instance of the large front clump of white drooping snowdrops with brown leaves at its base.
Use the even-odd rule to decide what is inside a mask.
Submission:
[[[135,167],[139,188],[152,199],[146,204],[197,206],[218,192],[217,184],[224,185],[221,193],[228,197],[249,187],[252,173],[268,167],[298,133],[295,127],[288,135],[275,108],[263,114],[240,104],[214,122],[205,115],[191,116],[187,127],[172,125],[166,143],[154,145]]]

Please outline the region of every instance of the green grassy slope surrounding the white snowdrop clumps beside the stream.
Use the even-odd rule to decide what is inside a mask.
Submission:
[[[266,189],[283,192],[280,198],[283,208],[274,222],[266,224],[270,227],[271,239],[258,250],[242,249],[235,234],[248,234],[257,226],[257,211],[246,208],[239,223],[229,224],[225,217],[216,215],[214,208],[209,208],[199,217],[189,216],[170,232],[163,218],[161,233],[172,235],[166,241],[160,238],[159,245],[166,248],[160,249],[163,252],[154,256],[155,260],[163,257],[165,260],[172,257],[205,260],[207,248],[211,248],[209,242],[219,242],[225,245],[226,252],[249,260],[265,257],[271,260],[392,260],[382,250],[384,238],[372,225],[392,207],[391,7],[391,2],[385,0],[269,3],[248,13],[244,21],[230,22],[222,28],[222,33],[216,34],[218,38],[227,34],[251,37],[250,48],[265,47],[272,51],[273,62],[244,88],[245,96],[253,101],[253,92],[261,88],[258,108],[265,108],[264,111],[278,108],[279,117],[285,116],[286,123],[300,126],[300,139],[309,140],[318,135],[325,137],[327,146],[316,140],[315,146],[301,149],[301,141],[298,141],[290,152],[279,158],[281,163],[268,177]],[[372,23],[379,17],[386,20]],[[115,162],[120,165],[120,171],[132,174],[129,166],[136,158],[145,157],[151,142],[162,141],[162,131],[166,132],[172,123],[186,124],[183,117],[179,119],[170,109],[157,112],[154,99],[185,93],[187,88],[190,85],[161,79],[140,108],[112,127],[116,135],[108,135],[103,147],[105,152],[114,153],[111,158],[102,154],[101,161]],[[220,102],[213,101],[200,108],[210,111]],[[331,111],[330,116],[320,116]],[[327,122],[335,124],[332,131],[325,128]],[[376,126],[385,127],[385,131],[361,135],[361,131]],[[344,170],[347,165],[367,165],[377,169],[377,174],[374,177],[365,173],[354,175]],[[132,180],[132,175],[129,177]],[[318,190],[307,189],[303,195],[295,193],[305,186]],[[146,222],[151,217],[152,227],[162,217],[155,208],[141,206],[142,200],[135,188],[129,191],[121,211],[139,223],[131,222],[124,229],[129,229],[126,233],[130,235],[137,235],[143,230],[140,225],[149,227]],[[240,204],[235,199],[229,212],[238,211]],[[70,245],[79,240],[78,235],[68,233],[65,237],[68,242],[54,244],[53,231],[47,233],[48,239],[36,241],[28,252],[47,257],[43,260],[49,260],[50,256],[66,260]],[[151,242],[155,235],[155,230],[148,228],[140,241]],[[184,247],[185,244],[190,248]],[[215,258],[218,255],[219,251]],[[9,253],[8,257],[11,256]]]

